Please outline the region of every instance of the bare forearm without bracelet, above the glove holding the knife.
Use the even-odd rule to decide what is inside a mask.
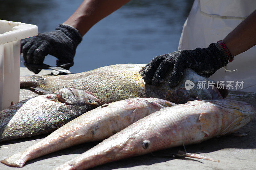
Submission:
[[[84,36],[89,29],[130,0],[84,0],[64,24],[71,25]]]

